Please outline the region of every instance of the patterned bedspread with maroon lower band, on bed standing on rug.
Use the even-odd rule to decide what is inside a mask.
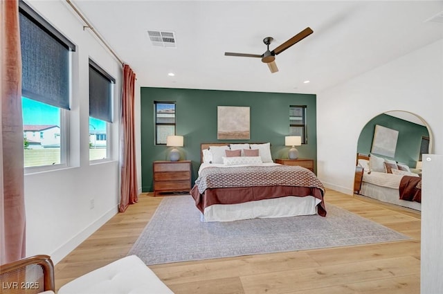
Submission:
[[[201,212],[213,204],[311,195],[320,199],[318,214],[326,216],[323,184],[313,172],[304,167],[207,167],[201,171],[190,194]]]

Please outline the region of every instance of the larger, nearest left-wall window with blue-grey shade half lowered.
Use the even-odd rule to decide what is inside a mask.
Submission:
[[[67,165],[71,54],[75,45],[19,1],[24,167]]]

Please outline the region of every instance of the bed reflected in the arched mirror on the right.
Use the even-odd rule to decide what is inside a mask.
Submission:
[[[422,178],[418,171],[374,154],[357,154],[357,170],[361,171],[361,187],[358,194],[422,210]],[[358,174],[356,172],[356,176]]]

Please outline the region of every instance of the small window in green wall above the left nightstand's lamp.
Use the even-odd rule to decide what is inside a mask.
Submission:
[[[154,102],[155,144],[165,145],[166,138],[175,135],[175,102]]]

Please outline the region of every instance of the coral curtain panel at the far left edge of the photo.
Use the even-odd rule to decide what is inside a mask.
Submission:
[[[19,3],[1,5],[0,264],[26,255]]]

